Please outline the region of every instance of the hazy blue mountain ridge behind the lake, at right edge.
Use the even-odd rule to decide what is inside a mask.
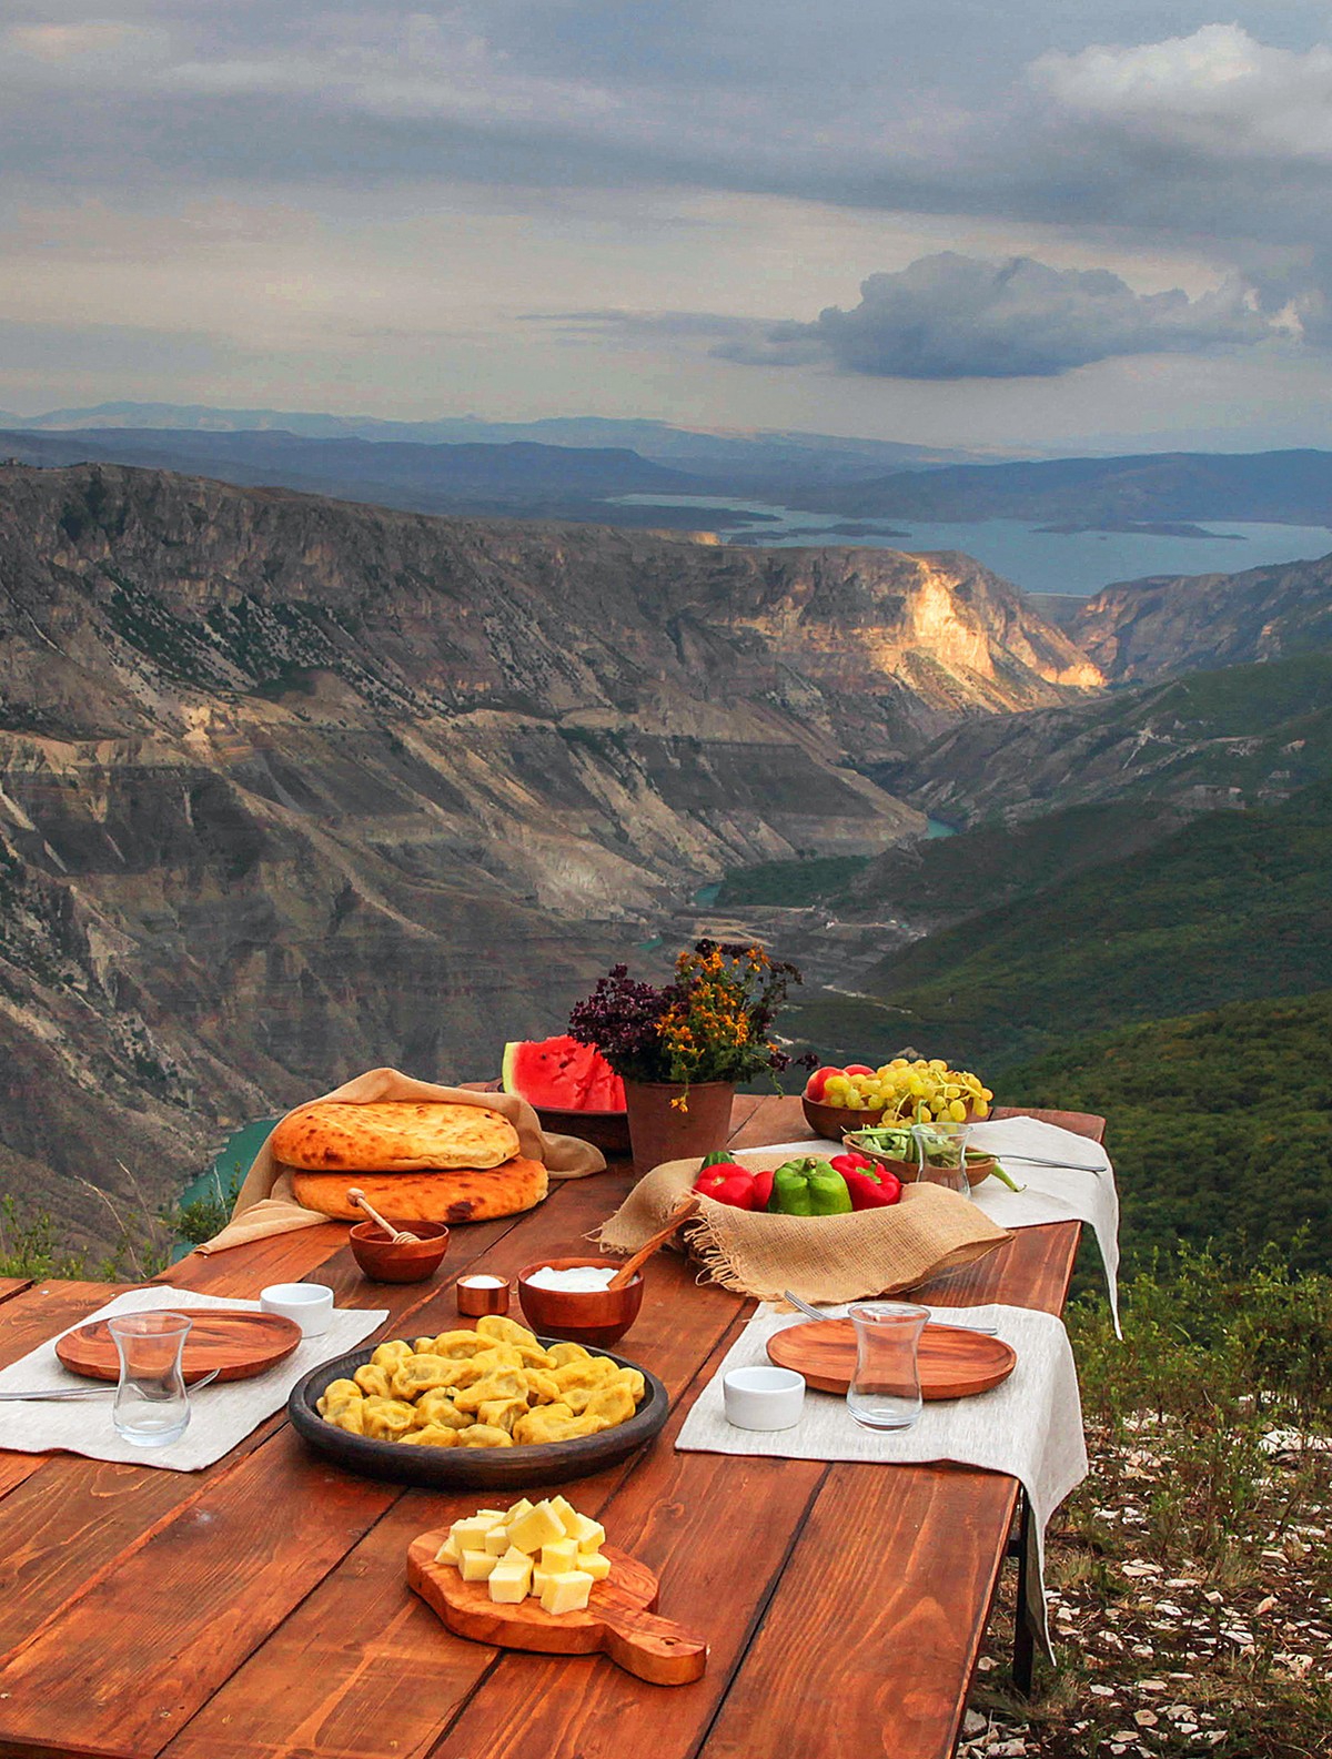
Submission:
[[[875,519],[1026,519],[1068,529],[1241,519],[1332,524],[1332,452],[1147,452],[899,471],[804,507]]]

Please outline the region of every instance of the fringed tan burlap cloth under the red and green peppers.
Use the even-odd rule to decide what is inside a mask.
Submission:
[[[734,1159],[762,1170],[788,1156],[741,1149]],[[700,1164],[665,1161],[653,1168],[602,1223],[595,1235],[602,1251],[637,1251],[693,1187]],[[855,1215],[764,1215],[699,1198],[699,1219],[688,1223],[686,1235],[707,1282],[765,1302],[790,1289],[806,1302],[829,1303],[913,1289],[1012,1240],[973,1203],[940,1186],[906,1186],[901,1203]]]

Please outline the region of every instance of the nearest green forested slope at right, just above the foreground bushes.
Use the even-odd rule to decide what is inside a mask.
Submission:
[[[1274,1242],[1332,1268],[1332,990],[1075,1040],[1010,1069],[1008,1105],[1110,1120],[1128,1266],[1181,1240]]]

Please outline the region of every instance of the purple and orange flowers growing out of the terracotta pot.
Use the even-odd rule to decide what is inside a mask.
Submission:
[[[679,1082],[684,1091],[672,1105],[684,1112],[692,1082],[748,1082],[787,1068],[790,1057],[771,1031],[787,989],[799,982],[795,966],[762,946],[699,941],[676,959],[676,980],[665,989],[612,966],[575,1004],[568,1031],[625,1080]]]

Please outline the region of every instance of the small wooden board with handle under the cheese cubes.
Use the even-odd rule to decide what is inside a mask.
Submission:
[[[537,1650],[542,1655],[609,1655],[649,1685],[688,1685],[707,1666],[707,1643],[655,1613],[656,1576],[637,1558],[602,1546],[611,1574],[591,1590],[586,1611],[547,1613],[528,1597],[496,1604],[484,1581],[463,1581],[435,1553],[447,1529],[414,1539],[406,1553],[408,1587],[459,1638],[496,1648]]]

